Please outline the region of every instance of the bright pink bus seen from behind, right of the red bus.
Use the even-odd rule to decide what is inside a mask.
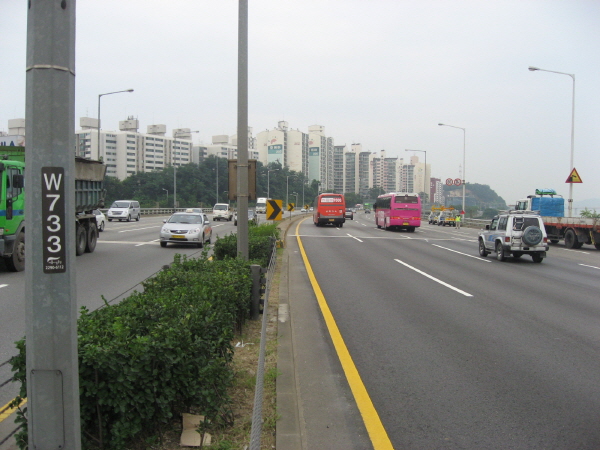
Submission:
[[[421,226],[421,198],[415,192],[390,192],[377,197],[375,225],[386,230],[415,231]]]

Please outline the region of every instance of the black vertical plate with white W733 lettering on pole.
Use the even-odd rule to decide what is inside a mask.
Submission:
[[[65,174],[62,167],[42,167],[42,237],[44,273],[66,272]]]

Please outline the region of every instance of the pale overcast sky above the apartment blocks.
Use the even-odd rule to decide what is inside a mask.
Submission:
[[[0,130],[25,117],[26,0],[0,0]],[[237,126],[236,0],[77,2],[76,127]],[[600,1],[250,0],[249,125],[323,125],[336,145],[410,157],[507,203],[570,172],[575,74],[575,201],[600,198]],[[415,153],[421,160],[423,153]]]

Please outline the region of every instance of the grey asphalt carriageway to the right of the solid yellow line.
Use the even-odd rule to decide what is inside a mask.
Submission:
[[[600,448],[600,252],[499,262],[476,230],[363,213],[297,230],[394,448]]]

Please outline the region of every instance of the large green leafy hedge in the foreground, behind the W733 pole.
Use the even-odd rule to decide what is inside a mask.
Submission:
[[[180,259],[121,303],[78,320],[84,448],[123,449],[193,410],[228,418],[231,341],[249,315],[249,262]],[[11,360],[25,396],[25,343]],[[26,408],[17,421],[26,421]],[[26,429],[18,433],[27,448]],[[142,444],[143,445],[143,444]]]

